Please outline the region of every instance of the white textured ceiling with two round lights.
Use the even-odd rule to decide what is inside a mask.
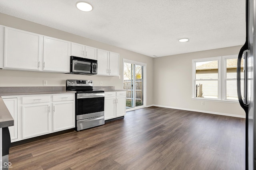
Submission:
[[[0,12],[150,57],[245,42],[245,0],[86,0],[92,12],[78,1],[0,0]]]

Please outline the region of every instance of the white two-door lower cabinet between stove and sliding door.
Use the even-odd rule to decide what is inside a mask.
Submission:
[[[124,116],[126,113],[126,92],[105,92],[105,120]]]

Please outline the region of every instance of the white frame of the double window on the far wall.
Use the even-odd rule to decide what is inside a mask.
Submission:
[[[224,101],[224,102],[238,102],[238,100],[231,100],[226,98],[227,86],[226,86],[226,60],[237,59],[238,55],[227,55],[219,57],[209,57],[203,59],[192,60],[192,99],[196,100],[213,100],[213,101]],[[205,61],[218,61],[218,98],[200,98],[196,97],[196,63]]]

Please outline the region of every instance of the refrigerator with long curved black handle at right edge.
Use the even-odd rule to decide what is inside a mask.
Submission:
[[[238,100],[246,113],[246,170],[256,169],[256,0],[246,0],[246,42],[237,62]],[[243,61],[243,62],[242,62]],[[241,66],[241,63],[243,65]],[[242,67],[242,69],[241,69]],[[241,74],[244,78],[241,79]],[[241,85],[244,86],[241,89]]]

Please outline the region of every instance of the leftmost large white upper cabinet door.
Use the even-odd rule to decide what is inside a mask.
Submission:
[[[39,70],[43,37],[18,29],[5,28],[4,67]]]

